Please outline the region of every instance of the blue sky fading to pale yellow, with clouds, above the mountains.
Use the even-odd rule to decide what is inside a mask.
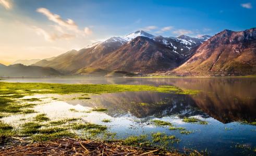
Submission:
[[[0,0],[0,63],[44,59],[137,30],[192,37],[256,27],[256,0]]]

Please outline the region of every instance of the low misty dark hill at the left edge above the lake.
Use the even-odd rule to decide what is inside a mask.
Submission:
[[[24,66],[23,64],[0,66],[1,77],[47,77],[58,75],[62,75],[62,73],[50,67]]]

